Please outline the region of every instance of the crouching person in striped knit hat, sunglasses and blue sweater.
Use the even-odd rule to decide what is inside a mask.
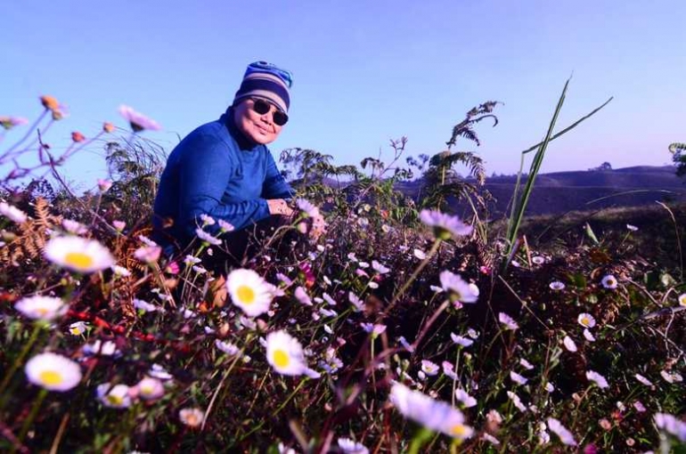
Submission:
[[[172,150],[153,215],[154,238],[167,255],[187,247],[201,229],[213,236],[233,230],[225,235],[228,252],[240,257],[249,227],[292,215],[288,202],[294,191],[266,148],[288,122],[291,85],[289,71],[265,61],[251,63],[225,114],[196,128]],[[311,233],[318,237],[322,231],[320,216]]]

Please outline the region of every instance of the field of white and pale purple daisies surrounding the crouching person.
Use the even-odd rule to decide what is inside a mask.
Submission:
[[[26,120],[0,118],[0,450],[686,452],[678,208],[661,229],[535,242],[487,220],[478,184],[446,180],[455,131],[441,159],[395,166],[403,139],[368,174],[287,150],[298,215],[212,275],[231,225],[205,216],[175,257],[150,239],[163,159],[140,134],[159,126],[123,106],[131,132],[75,132],[54,156],[63,108],[41,101],[23,137]],[[63,184],[60,165],[100,144],[96,190],[43,179]],[[425,199],[393,188],[412,166],[443,177]],[[456,196],[473,210],[450,214]],[[669,239],[660,261],[648,230]]]

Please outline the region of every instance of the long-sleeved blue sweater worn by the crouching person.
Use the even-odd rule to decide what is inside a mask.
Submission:
[[[238,130],[229,108],[188,134],[169,155],[155,199],[154,237],[167,251],[171,239],[184,247],[195,238],[200,215],[223,219],[238,231],[269,216],[266,199],[293,196],[269,149]],[[216,234],[219,226],[205,231]]]

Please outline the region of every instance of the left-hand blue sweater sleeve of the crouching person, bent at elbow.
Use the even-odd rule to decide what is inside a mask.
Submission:
[[[179,162],[178,211],[178,222],[186,236],[195,237],[195,229],[202,223],[200,215],[222,219],[236,230],[269,216],[265,199],[222,202],[226,181],[233,174],[233,163],[224,142],[207,134],[197,134],[187,140]],[[216,234],[219,226],[215,224],[205,230]]]

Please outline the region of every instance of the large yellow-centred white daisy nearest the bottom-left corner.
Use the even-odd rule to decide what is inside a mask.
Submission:
[[[40,353],[27,361],[26,377],[49,391],[69,391],[81,381],[81,368],[75,361],[56,353]]]

